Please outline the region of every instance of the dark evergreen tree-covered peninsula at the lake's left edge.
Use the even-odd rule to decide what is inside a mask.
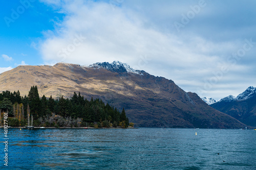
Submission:
[[[19,91],[0,93],[0,122],[3,125],[3,113],[8,112],[9,126],[23,127],[28,125],[28,118],[33,115],[35,127],[95,127],[109,128],[129,126],[129,119],[124,109],[104,104],[100,99],[84,99],[74,92],[71,99],[54,100],[52,96],[41,98],[37,86],[32,86],[28,96],[20,96]]]

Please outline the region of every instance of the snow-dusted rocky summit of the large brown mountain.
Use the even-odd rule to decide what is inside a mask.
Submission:
[[[112,63],[109,62],[103,62],[103,63],[95,63],[92,65],[89,65],[89,67],[103,67],[105,69],[114,71],[114,72],[133,72],[135,74],[141,74],[140,70],[135,70],[130,67],[130,65],[126,63],[122,63],[120,61],[113,61]]]

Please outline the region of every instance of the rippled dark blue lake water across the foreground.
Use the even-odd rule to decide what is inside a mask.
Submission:
[[[256,169],[253,130],[13,128],[8,138],[1,169]]]

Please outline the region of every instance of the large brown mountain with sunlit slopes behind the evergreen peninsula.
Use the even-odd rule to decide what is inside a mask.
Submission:
[[[37,85],[39,95],[70,98],[80,91],[125,109],[130,122],[140,127],[242,128],[245,125],[211,108],[196,93],[185,92],[172,80],[155,77],[129,65],[95,63],[89,66],[57,63],[54,66],[18,66],[0,75],[0,89],[28,94]]]

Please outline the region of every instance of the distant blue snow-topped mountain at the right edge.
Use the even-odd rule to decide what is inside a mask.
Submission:
[[[252,86],[237,97],[229,95],[210,106],[246,125],[256,127],[256,88]]]

